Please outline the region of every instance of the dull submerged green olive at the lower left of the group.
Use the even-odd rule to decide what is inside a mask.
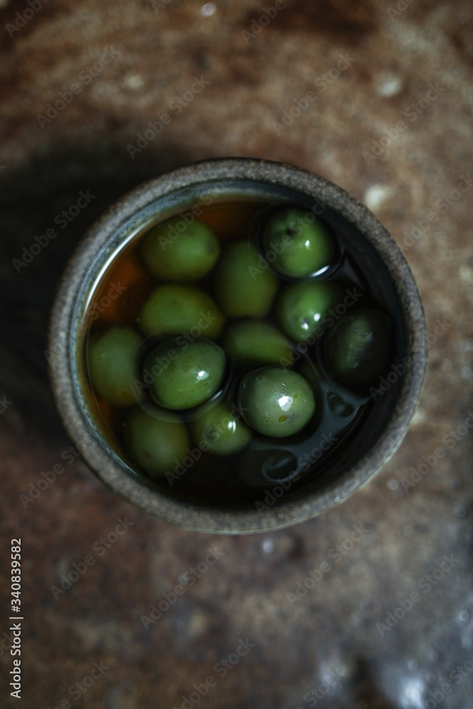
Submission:
[[[189,447],[186,427],[177,416],[162,421],[138,406],[126,418],[124,437],[130,456],[152,478],[174,470]]]

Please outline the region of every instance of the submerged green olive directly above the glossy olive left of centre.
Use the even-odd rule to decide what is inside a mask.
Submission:
[[[144,335],[191,333],[216,340],[225,318],[210,296],[189,286],[158,286],[145,302],[137,324]]]

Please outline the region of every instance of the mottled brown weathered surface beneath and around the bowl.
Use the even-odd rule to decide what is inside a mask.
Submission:
[[[29,7],[0,3],[2,528],[4,558],[9,541],[22,540],[25,618],[23,701],[9,697],[2,636],[1,705],[181,708],[189,696],[198,703],[194,685],[212,676],[199,700],[210,709],[472,708],[464,421],[473,411],[473,192],[462,182],[472,164],[472,10],[462,0],[294,0],[267,23],[251,0],[155,0],[154,8],[53,0],[18,29],[16,13],[29,17]],[[73,84],[80,91],[71,98]],[[58,92],[69,103],[51,121],[38,118]],[[298,102],[300,116],[283,125]],[[164,114],[132,159],[127,146]],[[382,473],[316,520],[248,537],[179,530],[99,484],[68,451],[44,354],[55,284],[84,229],[143,179],[228,155],[297,164],[367,203],[411,264],[430,333],[418,413]],[[94,199],[64,222],[61,212],[87,190]],[[14,264],[48,228],[57,237]],[[38,498],[20,497],[55,464],[64,472]],[[405,490],[419,467],[425,474]],[[118,519],[133,523],[120,536],[111,534]],[[354,525],[369,531],[347,548]],[[116,537],[109,548],[100,541],[107,535]],[[140,617],[208,549],[223,555],[146,629]],[[53,593],[89,555],[94,563],[72,588]],[[444,555],[453,565],[436,571]],[[313,588],[288,597],[321,564]],[[425,580],[432,574],[435,585]],[[1,586],[8,598],[5,577]],[[415,591],[420,600],[380,632],[377,623],[402,616]],[[244,656],[240,639],[254,644]],[[223,676],[216,664],[235,661],[237,649],[242,657]],[[103,674],[74,688],[94,663]]]

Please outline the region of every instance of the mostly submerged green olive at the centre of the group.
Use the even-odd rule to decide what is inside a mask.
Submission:
[[[222,338],[228,354],[241,364],[279,364],[288,361],[291,345],[273,325],[257,320],[242,320],[230,325]]]

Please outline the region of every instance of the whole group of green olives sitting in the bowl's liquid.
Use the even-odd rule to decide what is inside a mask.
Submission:
[[[148,475],[174,466],[191,439],[228,455],[255,433],[290,437],[313,418],[312,387],[280,362],[290,362],[294,342],[306,342],[324,313],[340,303],[343,287],[336,279],[321,280],[339,258],[335,239],[322,220],[303,217],[299,208],[272,210],[257,244],[237,240],[223,250],[198,220],[175,240],[167,235],[178,218],[143,238],[143,261],[164,282],[140,306],[137,329],[114,325],[101,333],[89,345],[88,361],[96,394],[130,407],[124,441]],[[269,253],[270,268],[264,260]],[[209,274],[211,295],[199,283]],[[263,319],[270,311],[277,324]],[[359,309],[325,337],[328,369],[340,382],[364,386],[384,367],[389,323],[383,318]],[[144,340],[154,345],[137,380]],[[137,386],[142,380],[147,406],[143,384]]]

